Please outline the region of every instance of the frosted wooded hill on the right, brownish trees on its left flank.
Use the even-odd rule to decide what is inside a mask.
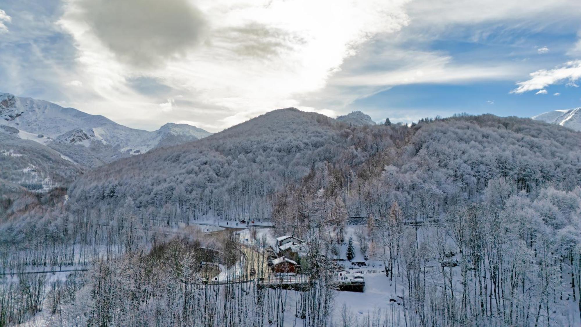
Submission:
[[[304,204],[304,192],[314,198],[321,188],[325,197],[345,200],[349,215],[385,216],[397,201],[406,218],[417,221],[482,200],[490,179],[504,178],[532,198],[546,187],[572,191],[581,183],[581,133],[529,119],[425,120],[409,128],[349,130],[347,142],[350,148],[335,162],[279,194],[278,203],[284,203],[279,210],[285,211],[274,218],[300,226],[288,218],[300,219],[296,206]]]

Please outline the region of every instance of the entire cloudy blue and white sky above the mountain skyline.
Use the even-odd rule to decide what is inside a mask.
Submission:
[[[0,92],[155,130],[581,106],[581,1],[0,0]]]

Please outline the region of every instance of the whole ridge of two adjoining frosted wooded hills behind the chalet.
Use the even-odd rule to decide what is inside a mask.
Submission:
[[[580,143],[579,133],[529,119],[483,115],[346,129],[322,115],[281,109],[194,143],[103,166],[76,180],[69,195],[89,207],[131,198],[137,208],[162,208],[161,215],[172,217],[267,219],[274,211],[288,219],[302,209],[281,209],[294,197],[285,187],[307,180],[313,184],[296,190],[300,203],[305,192],[347,187],[339,194],[348,194],[350,215],[381,215],[376,197],[383,193],[367,181],[393,165],[390,183],[403,183],[396,193],[406,212],[426,215],[431,208],[436,216],[450,197],[482,197],[493,176],[519,190],[547,183],[571,189],[581,182]],[[436,204],[421,202],[428,196]]]

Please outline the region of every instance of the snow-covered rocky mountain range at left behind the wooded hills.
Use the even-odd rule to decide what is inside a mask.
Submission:
[[[18,137],[47,145],[89,167],[211,135],[203,129],[175,123],[156,131],[132,129],[101,115],[9,93],[0,94],[0,125],[13,127],[18,130]]]

